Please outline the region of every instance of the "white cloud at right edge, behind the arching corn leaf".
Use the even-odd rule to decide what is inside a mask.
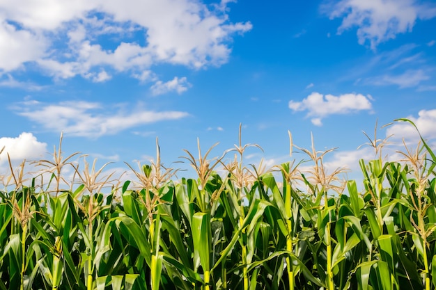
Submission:
[[[436,109],[433,110],[421,110],[418,113],[418,117],[413,115],[405,117],[418,127],[423,138],[434,139],[436,136]],[[419,135],[412,124],[408,122],[395,122],[387,128],[387,136],[394,135],[392,138],[406,140],[416,143],[419,140]]]

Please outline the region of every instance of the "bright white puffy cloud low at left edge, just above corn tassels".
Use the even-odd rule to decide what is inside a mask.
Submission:
[[[38,159],[47,152],[47,143],[39,142],[31,133],[23,132],[18,137],[0,138],[0,165],[11,161],[22,162],[24,159]]]

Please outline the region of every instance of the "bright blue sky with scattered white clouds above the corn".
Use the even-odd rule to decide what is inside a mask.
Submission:
[[[63,154],[188,168],[184,150],[272,166],[325,156],[330,170],[373,159],[368,136],[436,136],[436,3],[413,0],[3,0],[0,170]],[[359,149],[358,149],[359,148]],[[394,158],[392,157],[392,158]],[[224,160],[233,159],[229,153]],[[184,161],[185,163],[178,163]],[[186,172],[186,174],[189,174]],[[184,176],[185,173],[179,173]]]

